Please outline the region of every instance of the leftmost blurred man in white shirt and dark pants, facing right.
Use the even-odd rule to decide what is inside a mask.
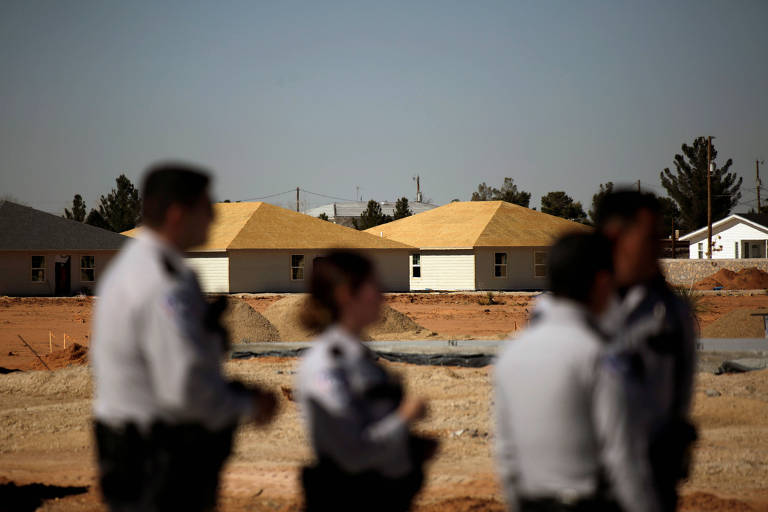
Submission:
[[[183,252],[212,220],[209,178],[150,169],[143,229],[101,279],[91,345],[101,491],[113,511],[211,510],[238,421],[268,421],[271,394],[221,374],[221,309]]]

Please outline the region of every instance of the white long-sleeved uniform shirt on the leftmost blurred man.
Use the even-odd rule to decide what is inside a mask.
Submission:
[[[126,243],[102,277],[91,366],[93,412],[146,431],[155,421],[218,430],[252,414],[249,394],[221,374],[222,340],[183,257],[150,229]]]

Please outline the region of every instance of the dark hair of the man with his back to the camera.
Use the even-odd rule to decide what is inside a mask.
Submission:
[[[586,304],[597,274],[612,271],[611,243],[598,233],[565,235],[549,251],[549,289],[558,297]]]

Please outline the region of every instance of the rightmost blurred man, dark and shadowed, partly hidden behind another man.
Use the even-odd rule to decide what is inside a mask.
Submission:
[[[694,318],[659,268],[661,213],[653,194],[618,191],[597,208],[598,230],[613,242],[619,300],[606,326],[612,364],[632,402],[632,423],[653,470],[663,509],[677,508],[696,429],[690,422],[695,371]]]

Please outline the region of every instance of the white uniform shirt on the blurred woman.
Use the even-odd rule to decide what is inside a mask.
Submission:
[[[376,393],[391,377],[374,357],[341,327],[329,328],[299,366],[299,405],[318,458],[396,478],[411,470],[408,427],[397,400]]]

